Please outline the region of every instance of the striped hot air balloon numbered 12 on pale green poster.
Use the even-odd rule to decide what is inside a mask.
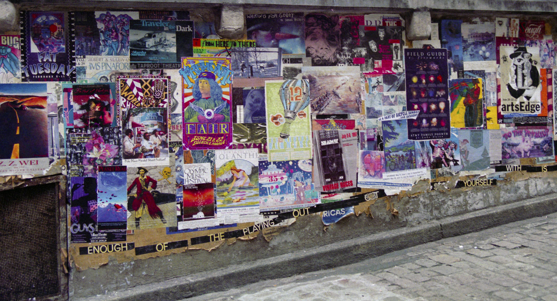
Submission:
[[[286,123],[282,127],[280,136],[284,139],[290,136],[290,124],[296,115],[310,104],[310,85],[307,80],[287,80],[282,83],[278,96],[284,107]]]

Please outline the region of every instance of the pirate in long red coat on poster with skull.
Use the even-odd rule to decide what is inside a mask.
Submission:
[[[160,218],[163,224],[167,223],[167,220],[164,219],[163,211],[159,209],[157,204],[155,204],[155,199],[153,198],[153,194],[151,191],[157,189],[157,180],[153,179],[146,175],[148,170],[143,167],[138,167],[138,174],[139,176],[135,178],[135,180],[131,183],[128,187],[128,195],[130,195],[131,190],[134,189],[134,186],[137,187],[136,193],[131,194],[130,196],[134,196],[135,199],[131,204],[131,209],[135,211],[135,228],[139,229],[139,221],[141,216],[146,212],[149,212],[151,218],[156,219],[157,217]],[[149,187],[149,183],[152,184]]]

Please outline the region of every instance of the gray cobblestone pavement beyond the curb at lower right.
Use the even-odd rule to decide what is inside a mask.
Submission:
[[[553,213],[183,301],[556,301],[556,273]]]

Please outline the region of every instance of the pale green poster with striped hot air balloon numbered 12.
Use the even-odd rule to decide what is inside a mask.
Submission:
[[[269,161],[311,159],[307,80],[266,81],[265,98]]]

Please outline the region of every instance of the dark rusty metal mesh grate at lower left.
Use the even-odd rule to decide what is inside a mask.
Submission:
[[[0,192],[0,300],[60,293],[56,184]]]

